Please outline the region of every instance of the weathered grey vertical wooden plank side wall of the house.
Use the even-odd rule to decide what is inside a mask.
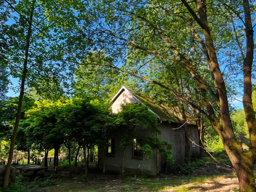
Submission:
[[[158,137],[161,140],[166,140],[167,142],[174,144],[172,148],[174,164],[168,165],[170,168],[175,167],[177,164],[184,163],[185,132],[184,132],[184,127],[179,128],[180,126],[181,125],[178,123],[173,123],[173,122],[169,123],[166,121],[162,121],[162,123],[159,125],[159,128],[162,134],[158,134]],[[190,139],[192,141],[195,141],[195,143],[199,145],[199,137],[198,137],[196,125],[189,124],[188,128],[190,129]],[[192,148],[192,154],[195,153],[196,150],[199,151],[198,146],[192,147],[192,144],[191,144],[191,148]],[[163,171],[164,169],[164,161],[163,161],[162,154],[160,154],[159,168],[160,168],[160,171]]]

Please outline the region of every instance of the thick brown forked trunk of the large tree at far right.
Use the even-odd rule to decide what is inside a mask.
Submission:
[[[244,153],[242,148],[242,143],[237,142],[235,134],[232,128],[232,123],[230,119],[229,107],[228,107],[228,97],[225,81],[223,79],[222,73],[220,71],[220,66],[218,63],[218,58],[214,48],[213,39],[211,37],[211,32],[208,26],[206,4],[203,0],[196,0],[196,8],[199,14],[199,18],[196,16],[195,12],[186,2],[186,0],[181,0],[182,3],[187,7],[188,11],[191,13],[192,17],[196,20],[199,26],[202,28],[205,38],[205,44],[207,46],[208,52],[208,63],[211,71],[213,83],[216,87],[216,91],[219,97],[219,121],[212,116],[207,118],[211,121],[213,127],[220,135],[223,142],[224,148],[230,158],[232,165],[234,166],[237,177],[239,180],[239,185],[242,191],[254,190],[253,188],[253,164],[256,160],[256,120],[255,112],[252,108],[252,83],[251,83],[251,73],[252,73],[252,62],[253,62],[253,28],[252,19],[250,12],[250,4],[248,0],[243,0],[244,7],[244,19],[245,19],[245,34],[246,34],[246,58],[244,60],[244,95],[243,95],[243,105],[244,112],[246,116],[246,121],[249,129],[250,135],[250,147],[249,152]]]

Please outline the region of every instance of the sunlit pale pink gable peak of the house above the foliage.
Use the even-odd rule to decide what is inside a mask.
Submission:
[[[118,97],[113,101],[111,105],[113,113],[118,113],[122,110],[122,105],[126,103],[137,103],[137,99],[135,99],[131,93],[127,92],[123,89],[122,92],[119,93]]]

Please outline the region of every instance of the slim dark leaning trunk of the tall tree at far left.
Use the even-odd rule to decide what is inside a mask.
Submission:
[[[11,170],[11,166],[12,166],[13,150],[14,150],[15,140],[16,140],[16,136],[17,136],[17,132],[18,132],[18,128],[19,128],[19,123],[20,123],[20,115],[21,115],[22,100],[23,100],[23,94],[24,94],[25,78],[26,78],[27,69],[28,69],[28,51],[29,51],[29,45],[30,45],[30,37],[32,34],[32,22],[33,22],[34,9],[35,9],[35,0],[33,0],[33,2],[32,2],[31,10],[30,10],[30,17],[29,17],[30,23],[28,24],[28,34],[26,36],[25,58],[24,58],[24,63],[23,63],[22,78],[21,78],[21,85],[20,85],[19,103],[18,103],[17,114],[16,114],[15,124],[14,124],[14,128],[13,128],[13,133],[12,133],[8,161],[7,161],[5,174],[4,174],[4,183],[3,183],[4,190],[8,187],[8,184],[9,184],[9,175],[10,175],[10,170]]]

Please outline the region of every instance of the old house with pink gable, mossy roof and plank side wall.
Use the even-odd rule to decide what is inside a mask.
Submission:
[[[172,113],[171,110],[166,111],[161,106],[154,105],[147,102],[149,99],[143,94],[135,94],[132,90],[122,87],[112,99],[112,110],[114,113],[118,113],[122,110],[122,105],[126,103],[138,103],[149,107],[149,110],[154,113],[158,118],[158,126],[162,134],[157,134],[161,140],[166,140],[169,143],[173,143],[173,159],[174,164],[167,165],[167,167],[174,167],[177,164],[182,164],[184,162],[185,155],[185,138],[184,138],[184,128],[182,124],[179,123],[175,118],[168,113]],[[190,130],[190,139],[194,141],[191,144],[192,154],[199,151],[199,136],[197,132],[197,127],[195,124],[188,124],[188,129]],[[109,139],[107,154],[105,155],[105,169],[106,171],[120,172],[123,162],[123,148],[119,147],[120,134],[122,130],[118,130],[111,139]],[[141,134],[147,134],[143,132]],[[136,146],[140,146],[139,141],[135,141]],[[196,144],[196,145],[195,145]],[[99,163],[102,161],[102,154],[99,153]],[[133,146],[126,148],[125,153],[125,171],[128,172],[140,172],[148,175],[157,175],[158,172],[164,172],[166,164],[163,160],[163,155],[157,153],[156,149],[153,149],[153,156],[148,159],[147,154],[142,153],[142,151]]]

